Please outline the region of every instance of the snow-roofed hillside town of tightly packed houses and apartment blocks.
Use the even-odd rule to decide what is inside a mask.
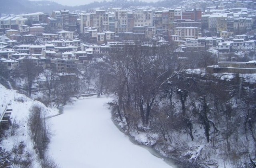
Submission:
[[[46,66],[58,60],[88,64],[93,54],[109,53],[122,45],[119,42],[153,37],[176,48],[215,48],[227,61],[230,53],[255,50],[256,10],[244,7],[248,4],[254,3],[209,1],[208,7],[191,10],[146,7],[1,14],[0,55],[7,59],[1,61],[19,62],[21,53],[27,53]]]

